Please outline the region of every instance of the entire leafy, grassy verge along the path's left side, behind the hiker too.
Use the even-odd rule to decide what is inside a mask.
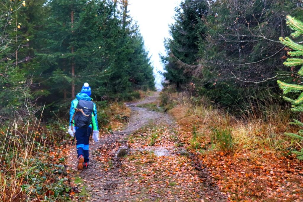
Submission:
[[[104,133],[128,121],[130,109],[125,104],[101,101],[96,105]],[[41,120],[42,116],[40,121],[19,118],[0,128],[0,201],[68,201],[72,195],[83,197],[85,190],[74,192],[64,166],[62,149],[71,141],[68,120],[60,116],[45,123]]]

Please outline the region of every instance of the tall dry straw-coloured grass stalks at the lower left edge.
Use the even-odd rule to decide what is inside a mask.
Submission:
[[[29,195],[35,194],[29,191],[25,194],[22,185],[28,173],[35,169],[35,159],[43,160],[47,151],[41,151],[46,143],[38,134],[37,128],[29,130],[29,121],[23,127],[18,126],[14,121],[13,125],[7,129],[6,134],[2,134],[0,148],[0,201],[23,201]],[[21,130],[20,130],[21,129]],[[1,138],[1,139],[2,139]],[[40,140],[37,142],[37,140]],[[28,183],[27,183],[28,184]],[[30,190],[35,190],[35,181],[29,184]],[[38,197],[38,194],[36,194]]]

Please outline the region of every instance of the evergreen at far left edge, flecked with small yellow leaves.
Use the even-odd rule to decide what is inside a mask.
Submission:
[[[25,1],[0,2],[0,122],[14,113],[17,118],[33,115],[37,96],[45,94],[33,89],[33,74],[40,66],[32,46],[36,23],[32,14]]]

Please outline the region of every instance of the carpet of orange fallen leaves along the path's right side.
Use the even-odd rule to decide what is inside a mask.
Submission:
[[[209,112],[215,116],[209,122],[203,117],[194,119],[195,111],[191,110],[180,104],[170,111],[181,125],[177,131],[178,140],[194,154],[195,162],[207,167],[214,182],[231,201],[303,201],[302,161],[266,145],[261,149],[245,149],[239,143],[238,149],[232,153],[218,147],[211,148],[211,127],[224,123],[219,124],[221,119],[215,110]],[[218,119],[218,123],[213,119]],[[202,134],[194,146],[193,126]]]

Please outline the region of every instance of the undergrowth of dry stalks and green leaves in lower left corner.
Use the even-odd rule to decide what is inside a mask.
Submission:
[[[65,177],[68,174],[63,165],[65,159],[55,159],[49,155],[56,153],[57,142],[64,139],[55,128],[42,126],[37,120],[34,123],[15,120],[6,133],[2,129],[1,201],[55,201],[69,198],[71,187]]]

